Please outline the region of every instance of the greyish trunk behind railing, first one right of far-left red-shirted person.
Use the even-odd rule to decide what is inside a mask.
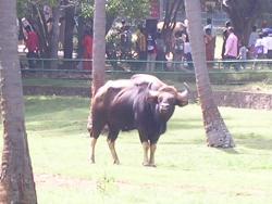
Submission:
[[[52,8],[52,31],[51,31],[51,40],[50,40],[50,58],[52,59],[50,61],[50,67],[53,69],[58,68],[58,51],[59,51],[59,37],[60,37],[60,16],[61,16],[61,10],[60,5]]]

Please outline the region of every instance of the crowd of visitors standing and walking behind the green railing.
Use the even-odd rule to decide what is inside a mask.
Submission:
[[[165,33],[161,29],[150,30],[139,25],[135,33],[136,39],[133,41],[131,26],[125,21],[122,21],[118,34],[120,38],[119,59],[131,60],[132,52],[134,52],[139,62],[137,69],[147,72],[153,72],[156,68],[166,71],[194,69],[191,48],[187,34],[188,23],[187,20],[184,21],[183,29],[174,30],[171,37],[165,37]],[[39,37],[30,25],[25,27],[25,49],[28,50],[26,54],[28,65],[29,68],[35,68],[35,59],[38,58],[39,53]],[[203,27],[202,37],[206,46],[208,68],[213,68],[215,46],[219,44],[215,44],[217,31],[210,18],[207,20],[207,24]],[[268,28],[267,23],[263,23],[259,29],[257,26],[252,26],[248,43],[246,44],[245,40],[236,35],[236,30],[232,27],[231,22],[226,22],[222,31],[222,39],[223,42],[220,44],[222,46],[221,59],[217,60],[223,60],[223,67],[226,69],[232,66],[236,71],[244,69],[247,66],[247,60],[272,59],[272,29]],[[82,67],[91,69],[92,31],[86,30],[83,41],[79,43],[83,47],[83,58],[85,59]]]

